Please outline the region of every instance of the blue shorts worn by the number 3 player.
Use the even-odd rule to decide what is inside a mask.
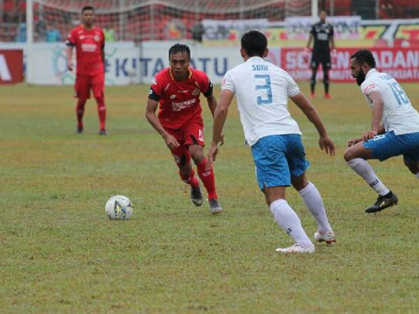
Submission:
[[[291,186],[291,177],[300,177],[310,164],[298,134],[262,137],[251,147],[251,154],[260,190]]]

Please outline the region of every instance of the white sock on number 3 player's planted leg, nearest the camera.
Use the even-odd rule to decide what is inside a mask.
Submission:
[[[297,244],[301,244],[303,247],[312,245],[309,237],[302,229],[300,218],[286,200],[276,200],[270,204],[269,208],[279,227],[290,235]]]

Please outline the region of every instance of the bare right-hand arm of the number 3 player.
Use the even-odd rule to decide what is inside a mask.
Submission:
[[[290,97],[293,100],[293,103],[300,108],[302,113],[311,121],[312,124],[317,129],[319,139],[318,139],[318,146],[323,151],[325,149],[326,154],[330,154],[330,156],[335,155],[335,144],[333,143],[332,139],[329,137],[328,132],[321,121],[320,114],[316,110],[314,105],[311,105],[309,100],[300,92],[295,96]]]

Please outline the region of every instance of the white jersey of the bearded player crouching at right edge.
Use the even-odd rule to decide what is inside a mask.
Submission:
[[[395,135],[419,132],[419,113],[391,75],[378,72],[375,68],[369,70],[361,84],[361,91],[370,107],[369,93],[380,93],[384,102],[382,121],[386,132],[394,131]]]

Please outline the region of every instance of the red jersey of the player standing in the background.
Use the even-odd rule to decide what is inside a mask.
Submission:
[[[77,74],[96,75],[104,72],[101,49],[105,46],[105,35],[102,29],[85,29],[79,25],[71,30],[66,45],[75,46],[77,50]]]

